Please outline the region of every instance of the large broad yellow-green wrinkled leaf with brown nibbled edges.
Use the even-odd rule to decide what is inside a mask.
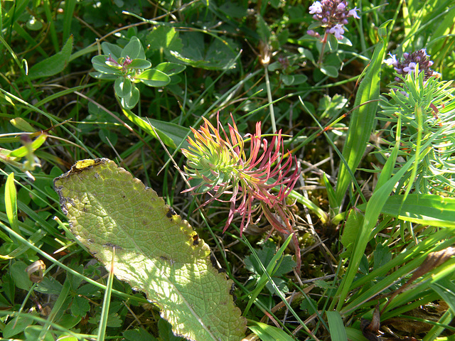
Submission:
[[[106,266],[115,248],[115,276],[144,291],[176,335],[242,339],[246,320],[232,302],[231,281],[154,190],[106,158],[79,161],[54,185],[76,238]]]

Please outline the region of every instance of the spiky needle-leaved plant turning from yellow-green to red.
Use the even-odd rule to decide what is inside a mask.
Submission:
[[[299,169],[296,168],[287,176],[293,166],[293,158],[289,154],[289,158],[282,162],[282,132],[278,131],[268,144],[267,139],[262,139],[261,122],[257,122],[255,134],[247,134],[244,139],[233,118],[232,125],[228,125],[229,136],[220,124],[219,117],[216,128],[207,119],[203,120],[200,130],[191,128],[194,139],[188,137],[189,147],[182,149],[183,155],[188,159],[185,166],[187,175],[190,180],[200,180],[198,185],[185,192],[210,195],[210,199],[201,206],[208,205],[213,200],[230,202],[223,232],[228,229],[234,215],[239,214],[242,216],[240,234],[250,224],[253,216],[259,220],[262,215],[272,228],[287,234],[293,233],[299,271],[299,242],[292,228],[294,216],[286,202],[299,178]],[[245,143],[248,140],[250,152],[247,157]],[[224,199],[226,196],[228,200]]]

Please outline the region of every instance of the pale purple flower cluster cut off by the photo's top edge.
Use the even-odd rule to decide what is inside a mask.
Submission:
[[[348,23],[348,18],[360,19],[357,14],[358,9],[348,9],[346,0],[321,0],[315,1],[310,7],[310,14],[313,18],[321,21],[321,26],[326,28],[326,34],[331,33],[337,39],[343,39],[345,32],[344,25]],[[309,30],[306,31],[310,36],[320,38],[319,33]]]

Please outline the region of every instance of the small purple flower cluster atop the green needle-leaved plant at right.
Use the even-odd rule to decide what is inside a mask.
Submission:
[[[417,64],[419,65],[419,72],[424,72],[424,80],[428,80],[429,77],[439,75],[437,72],[434,72],[430,67],[433,65],[433,61],[429,60],[429,55],[427,55],[427,50],[422,48],[413,53],[403,53],[403,58],[405,58],[402,63],[397,60],[396,55],[389,53],[390,58],[384,60],[384,63],[387,65],[392,65],[398,75],[412,75]],[[395,77],[397,82],[401,81],[400,77]]]

